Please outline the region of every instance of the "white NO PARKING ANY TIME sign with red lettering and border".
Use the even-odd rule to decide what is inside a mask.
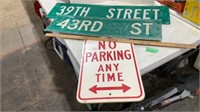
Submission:
[[[77,89],[80,103],[143,100],[133,44],[85,40],[83,48]]]

